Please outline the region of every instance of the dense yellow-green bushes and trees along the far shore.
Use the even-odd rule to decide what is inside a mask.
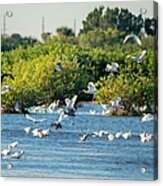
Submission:
[[[110,100],[120,96],[127,110],[133,112],[133,105],[147,105],[147,110],[152,112],[157,73],[154,65],[156,36],[155,30],[150,32],[150,26],[156,26],[155,20],[146,19],[148,37],[145,37],[141,32],[141,16],[136,17],[128,10],[120,12],[119,9],[108,8],[103,11],[102,7],[92,11],[83,21],[83,29],[78,36],[72,29],[60,27],[55,36],[43,33],[43,42],[30,41],[27,45],[18,42],[6,50],[6,43],[2,42],[2,71],[11,72],[15,77],[15,80],[6,78],[3,82],[12,86],[12,91],[2,95],[3,107],[13,108],[17,98],[22,100],[25,107],[40,102],[50,103],[54,99],[64,100],[78,94],[92,81],[98,88],[97,102],[109,104]],[[123,18],[123,12],[129,20]],[[118,19],[114,19],[115,15],[120,16],[121,25],[116,24]],[[133,27],[126,30],[123,24],[126,19],[128,24],[132,17],[135,18]],[[136,27],[137,21],[140,25]],[[133,42],[122,43],[126,34],[132,32],[139,35],[142,47]],[[8,41],[7,44],[10,45]],[[142,63],[126,57],[136,56],[143,49],[147,53]],[[58,62],[63,67],[62,72],[55,71]],[[119,64],[118,76],[105,72],[106,64],[112,62]],[[81,94],[79,99],[88,100],[89,96]]]

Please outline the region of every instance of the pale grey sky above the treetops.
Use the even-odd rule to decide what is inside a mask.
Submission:
[[[56,28],[68,26],[74,28],[76,20],[76,33],[82,28],[82,21],[95,7],[103,5],[110,8],[128,8],[138,15],[141,8],[146,9],[146,17],[153,17],[153,1],[103,1],[103,2],[72,2],[72,3],[44,3],[44,4],[0,4],[0,26],[3,29],[3,16],[7,11],[12,16],[6,16],[6,33],[20,33],[22,36],[40,38],[42,32],[42,17],[45,18],[45,32],[55,34]]]

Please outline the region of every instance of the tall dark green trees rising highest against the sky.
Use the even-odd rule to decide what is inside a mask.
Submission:
[[[128,9],[110,9],[107,7],[104,11],[104,7],[100,6],[87,15],[86,19],[83,21],[83,28],[80,30],[79,34],[87,33],[99,28],[103,30],[112,28],[126,33],[138,34],[141,28],[144,27],[144,23],[147,34],[155,35],[155,19],[148,18],[144,22],[141,14],[135,16]]]

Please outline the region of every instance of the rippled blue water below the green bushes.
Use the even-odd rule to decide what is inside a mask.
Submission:
[[[2,114],[2,149],[13,141],[19,144],[15,150],[25,150],[20,160],[2,159],[2,176],[12,177],[54,177],[54,178],[90,178],[90,179],[154,179],[154,141],[141,143],[139,134],[143,131],[154,133],[154,122],[142,123],[140,117],[113,117],[90,115],[89,110],[100,110],[98,105],[85,104],[78,109],[74,119],[68,117],[60,132],[54,129],[43,139],[27,135],[23,128],[36,124],[23,115]],[[47,129],[58,117],[55,114],[36,114],[35,118],[45,118],[39,124]],[[75,125],[73,125],[73,122]],[[106,130],[111,133],[133,131],[129,140],[122,138],[109,141],[88,137],[79,143],[83,131]],[[13,167],[7,169],[11,163]],[[146,172],[141,173],[140,169]]]

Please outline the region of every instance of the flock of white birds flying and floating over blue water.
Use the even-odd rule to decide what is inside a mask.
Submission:
[[[125,37],[123,43],[125,44],[129,40],[134,40],[139,46],[142,46],[141,40],[135,34],[127,35]],[[128,56],[126,56],[126,58],[131,58],[133,61],[135,61],[137,63],[142,63],[142,59],[145,56],[145,54],[146,54],[146,50],[143,50],[137,56],[128,55]],[[63,68],[60,63],[58,63],[56,65],[55,70],[58,72],[62,72]],[[111,65],[107,64],[105,71],[106,72],[113,72],[115,74],[119,73],[119,65],[115,62],[112,63]],[[3,85],[1,88],[1,94],[6,94],[10,90],[12,90],[12,87],[10,85]],[[87,89],[83,90],[82,92],[84,92],[86,94],[95,95],[97,92],[97,88],[93,82],[89,82],[87,85]],[[33,107],[28,108],[27,110],[29,113],[50,113],[50,114],[53,114],[57,110],[58,119],[56,121],[54,121],[53,123],[51,123],[51,125],[47,129],[41,129],[40,125],[38,127],[38,124],[45,122],[46,119],[44,119],[44,118],[43,119],[36,119],[36,118],[32,117],[31,114],[24,114],[24,116],[27,120],[31,121],[31,123],[36,124],[35,127],[33,127],[34,125],[32,125],[32,126],[28,126],[28,127],[24,128],[24,132],[27,135],[31,134],[33,137],[43,139],[43,138],[49,136],[49,134],[51,133],[51,128],[55,128],[56,130],[61,130],[63,119],[66,117],[69,117],[69,116],[70,117],[75,116],[75,113],[77,111],[77,108],[75,107],[77,97],[78,97],[77,95],[74,95],[72,99],[66,98],[65,99],[66,106],[64,108],[59,108],[59,100],[54,101],[48,107],[43,105],[43,106],[33,106]],[[98,114],[109,115],[113,110],[125,109],[125,107],[123,105],[121,105],[120,102],[121,102],[121,97],[117,97],[110,102],[110,105],[101,104],[101,108],[102,108],[101,112],[96,112],[96,110],[90,110],[90,114],[91,115],[98,115]],[[15,110],[20,113],[22,112],[18,102],[16,102]],[[144,114],[144,116],[141,119],[142,122],[147,122],[147,121],[152,121],[152,120],[154,120],[154,116],[150,113]],[[80,143],[85,142],[90,136],[93,138],[106,138],[108,141],[111,142],[111,141],[114,141],[114,140],[117,140],[120,138],[123,140],[128,140],[133,136],[133,132],[132,131],[127,131],[127,132],[126,131],[125,132],[118,131],[116,133],[111,133],[111,132],[104,131],[104,130],[94,131],[94,132],[87,131],[87,132],[83,132],[82,136],[80,137],[79,142]],[[149,134],[147,132],[142,132],[138,137],[142,143],[147,143],[147,142],[150,142],[151,140],[157,140],[157,136],[154,136],[153,134]],[[1,151],[2,158],[4,158],[4,159],[11,158],[11,159],[15,159],[15,160],[22,158],[25,154],[25,151],[24,150],[15,151],[17,145],[18,145],[18,141],[15,141],[15,142],[9,144],[6,149],[2,149],[2,151]],[[12,165],[8,164],[7,168],[8,169],[12,168]]]

